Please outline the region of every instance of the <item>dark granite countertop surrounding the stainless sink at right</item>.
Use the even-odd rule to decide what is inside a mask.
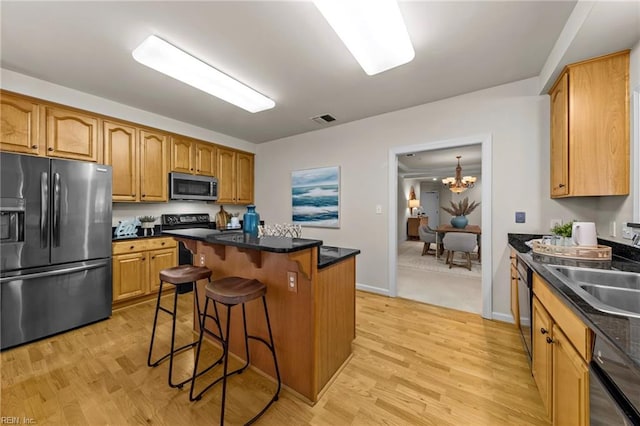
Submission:
[[[526,241],[541,237],[541,235],[534,234],[508,234],[509,245],[518,252],[518,259],[529,265],[533,271],[544,278],[566,305],[596,333],[596,338],[603,338],[612,344],[624,358],[629,360],[629,365],[634,367],[640,374],[640,318],[629,318],[598,311],[544,267],[545,264],[562,264],[640,272],[640,262],[638,262],[640,250],[613,241],[599,239],[599,244],[612,247],[613,256],[611,261],[563,259],[533,253],[524,244]]]

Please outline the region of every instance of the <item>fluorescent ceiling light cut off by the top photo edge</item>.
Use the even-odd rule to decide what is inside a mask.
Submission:
[[[314,0],[368,75],[406,64],[415,52],[396,0]]]

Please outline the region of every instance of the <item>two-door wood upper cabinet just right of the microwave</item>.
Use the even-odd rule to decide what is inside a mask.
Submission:
[[[218,147],[218,203],[253,203],[253,154]]]

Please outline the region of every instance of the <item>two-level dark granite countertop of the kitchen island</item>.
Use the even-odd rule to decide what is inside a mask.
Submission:
[[[312,247],[319,247],[319,269],[360,253],[360,250],[357,249],[323,246],[321,240],[271,236],[258,238],[245,235],[242,232],[220,232],[215,229],[190,228],[162,231],[162,235],[273,253],[292,253]]]

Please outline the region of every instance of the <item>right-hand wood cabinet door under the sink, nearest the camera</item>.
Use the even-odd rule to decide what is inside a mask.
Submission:
[[[589,425],[589,368],[553,326],[553,424]]]

